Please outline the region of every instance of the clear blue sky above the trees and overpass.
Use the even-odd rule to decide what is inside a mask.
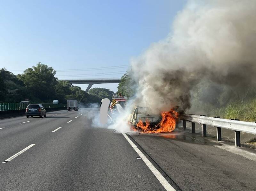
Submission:
[[[167,36],[185,3],[0,0],[0,68],[18,74],[41,62],[59,79],[121,77],[132,57]],[[117,91],[117,84],[93,87]]]

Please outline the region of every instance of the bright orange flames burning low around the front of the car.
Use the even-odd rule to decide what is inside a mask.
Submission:
[[[162,120],[155,127],[150,127],[148,119],[146,119],[145,125],[140,120],[136,125],[138,130],[144,133],[164,133],[172,132],[175,129],[176,121],[178,121],[179,114],[171,109],[169,112],[162,112]]]

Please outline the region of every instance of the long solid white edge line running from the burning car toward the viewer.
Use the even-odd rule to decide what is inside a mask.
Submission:
[[[130,143],[132,148],[138,153],[140,158],[148,166],[151,172],[156,176],[157,180],[163,185],[166,190],[175,191],[175,189],[169,184],[169,182],[163,177],[163,175],[156,169],[154,165],[148,160],[148,158],[138,149],[138,147],[131,141],[131,139],[124,133],[122,133],[124,138]]]

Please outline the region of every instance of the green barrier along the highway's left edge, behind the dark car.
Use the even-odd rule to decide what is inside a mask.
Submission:
[[[33,104],[33,103],[29,103]],[[67,107],[67,104],[41,103],[45,108]],[[26,109],[27,103],[0,103],[0,111]]]

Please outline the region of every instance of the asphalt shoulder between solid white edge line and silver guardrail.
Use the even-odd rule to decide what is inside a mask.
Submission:
[[[220,149],[215,138],[190,130],[131,136],[182,190],[256,190],[256,162]]]

